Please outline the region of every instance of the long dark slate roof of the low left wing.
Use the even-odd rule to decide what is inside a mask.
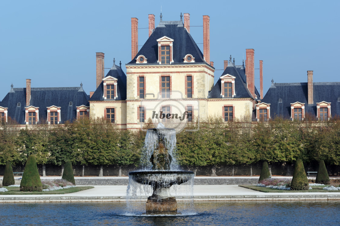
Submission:
[[[13,92],[14,91],[14,92]],[[69,106],[69,102],[72,106]],[[20,107],[17,104],[20,102]],[[77,118],[76,106],[89,106],[88,95],[81,87],[31,88],[30,106],[39,107],[39,120],[47,119],[47,107],[61,107],[61,123]],[[1,101],[8,107],[8,116],[25,124],[26,88],[13,88]]]

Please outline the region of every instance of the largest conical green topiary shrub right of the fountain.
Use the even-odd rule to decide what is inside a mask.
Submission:
[[[301,159],[297,159],[295,162],[294,175],[292,183],[290,185],[290,190],[308,190],[308,178],[303,167],[303,162]]]

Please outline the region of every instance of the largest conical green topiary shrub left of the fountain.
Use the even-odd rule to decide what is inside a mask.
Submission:
[[[42,191],[43,184],[41,184],[37,163],[34,155],[28,156],[25,169],[23,171],[20,191]]]

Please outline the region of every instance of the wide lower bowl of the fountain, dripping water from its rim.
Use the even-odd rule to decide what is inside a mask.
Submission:
[[[192,171],[133,171],[129,173],[132,179],[143,185],[169,188],[172,185],[180,185],[190,180]]]

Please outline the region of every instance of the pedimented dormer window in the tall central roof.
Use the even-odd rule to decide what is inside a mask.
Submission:
[[[173,39],[163,36],[157,39],[158,42],[158,60],[159,64],[173,63],[172,43]]]

